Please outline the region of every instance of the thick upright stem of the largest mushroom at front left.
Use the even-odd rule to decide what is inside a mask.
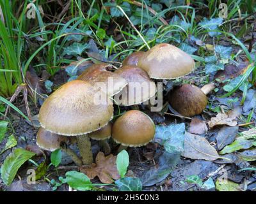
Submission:
[[[92,146],[90,138],[87,135],[79,135],[77,138],[77,147],[81,155],[81,159],[84,165],[92,164]]]

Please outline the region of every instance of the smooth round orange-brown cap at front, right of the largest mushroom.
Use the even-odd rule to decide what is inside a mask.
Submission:
[[[155,135],[155,124],[145,113],[130,110],[116,119],[112,128],[112,138],[124,146],[147,145]]]

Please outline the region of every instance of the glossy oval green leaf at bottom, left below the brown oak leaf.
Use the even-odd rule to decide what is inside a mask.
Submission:
[[[66,180],[70,187],[78,191],[89,191],[93,189],[91,180],[84,174],[77,171],[68,171]]]

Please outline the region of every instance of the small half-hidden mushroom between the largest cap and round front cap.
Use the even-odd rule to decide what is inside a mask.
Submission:
[[[101,147],[103,147],[105,155],[110,154],[108,139],[111,137],[112,123],[109,122],[103,128],[88,134],[88,137],[93,140],[98,140]]]

